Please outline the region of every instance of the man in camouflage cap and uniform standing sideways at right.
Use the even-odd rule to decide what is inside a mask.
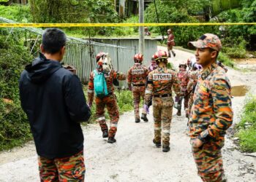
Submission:
[[[189,46],[196,47],[197,63],[203,67],[189,118],[192,154],[203,181],[225,181],[221,149],[233,122],[233,110],[230,81],[217,65],[222,44],[218,36],[206,33]]]

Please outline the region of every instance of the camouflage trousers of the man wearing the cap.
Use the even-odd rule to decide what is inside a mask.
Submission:
[[[222,146],[223,144],[219,146],[215,142],[208,141],[200,149],[192,147],[198,175],[203,181],[219,182],[226,180],[222,162]]]

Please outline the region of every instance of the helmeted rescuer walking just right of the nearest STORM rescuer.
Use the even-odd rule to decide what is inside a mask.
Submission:
[[[181,83],[181,95],[176,95],[175,101],[178,103],[178,111],[177,115],[181,116],[181,103],[184,98],[184,110],[187,111],[188,107],[188,102],[189,102],[189,97],[188,97],[188,92],[187,92],[187,83],[189,82],[189,75],[187,71],[187,64],[186,63],[180,63],[178,65],[179,71],[177,73],[178,80]],[[186,113],[187,116],[187,113]]]

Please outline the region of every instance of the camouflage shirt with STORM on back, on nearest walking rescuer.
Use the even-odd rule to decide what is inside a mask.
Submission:
[[[168,68],[157,68],[148,74],[148,86],[145,92],[145,104],[151,95],[172,94],[172,87],[176,94],[180,94],[180,87],[175,71]]]

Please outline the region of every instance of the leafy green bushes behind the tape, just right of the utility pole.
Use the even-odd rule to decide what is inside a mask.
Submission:
[[[186,2],[186,3],[185,3]],[[173,2],[174,3],[174,2]],[[195,17],[192,17],[188,13],[188,9],[192,9],[192,4],[187,1],[184,3],[168,3],[167,1],[157,1],[157,9],[159,9],[159,23],[198,23]],[[189,5],[190,4],[190,5]],[[188,8],[187,8],[187,7]],[[186,9],[184,8],[186,7]],[[202,9],[203,7],[201,7]],[[198,9],[197,9],[198,10]],[[155,12],[154,4],[150,4],[145,12],[146,23],[157,23],[157,15]],[[166,34],[169,27],[162,27],[162,33]],[[212,32],[211,27],[203,26],[174,26],[173,28],[174,36],[176,36],[176,45],[187,47],[187,42],[191,40],[196,40],[203,33]],[[161,33],[159,27],[149,28],[152,32]]]

